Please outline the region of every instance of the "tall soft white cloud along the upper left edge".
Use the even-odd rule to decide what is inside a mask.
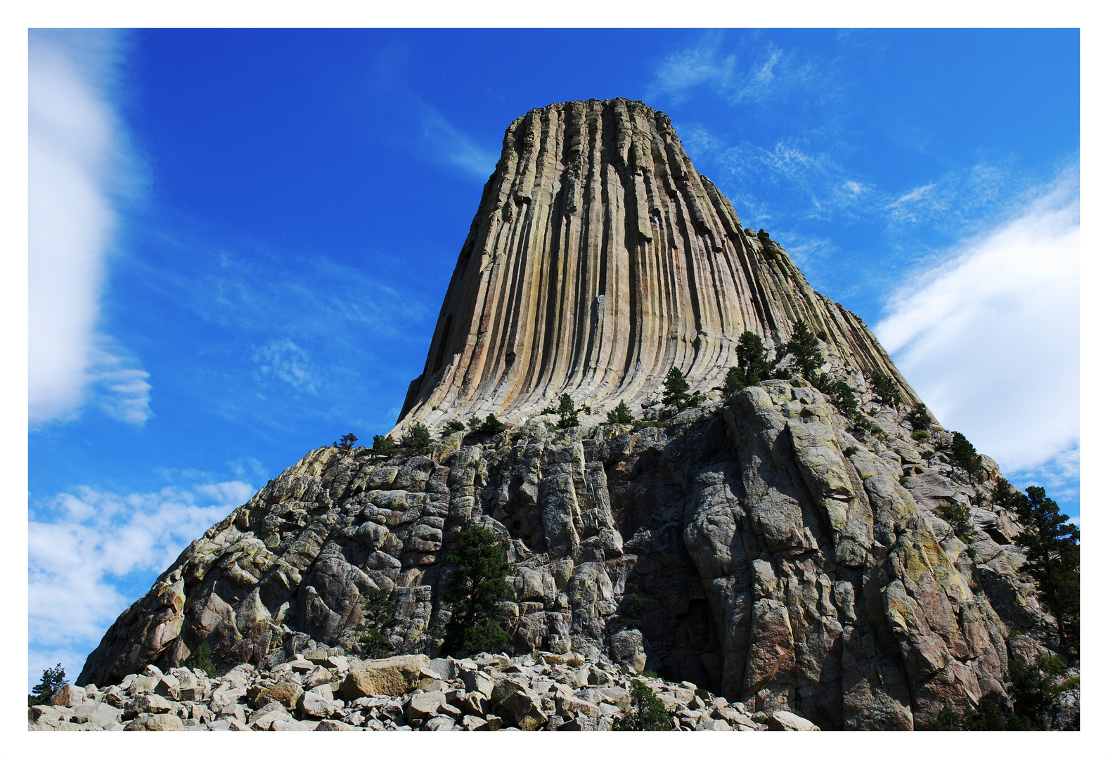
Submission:
[[[116,206],[141,172],[111,104],[121,40],[32,30],[29,43],[31,424],[73,419],[90,398],[117,419],[150,416],[146,372],[98,334]]]

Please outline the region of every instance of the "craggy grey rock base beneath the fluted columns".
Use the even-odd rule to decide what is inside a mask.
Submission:
[[[803,380],[771,380],[665,429],[538,418],[430,455],[317,449],[188,546],[78,683],[168,670],[205,640],[220,668],[349,647],[372,587],[399,604],[394,650],[435,656],[443,560],[480,524],[513,562],[516,654],[607,654],[824,729],[926,727],[1004,696],[1009,649],[1037,650],[1050,619],[1010,514],[973,505],[968,544],[938,515],[974,495],[950,435],[915,441],[903,407],[863,408],[864,432]]]

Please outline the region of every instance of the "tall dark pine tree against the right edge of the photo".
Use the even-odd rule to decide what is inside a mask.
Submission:
[[[1027,572],[1038,586],[1039,598],[1057,620],[1058,642],[1076,652],[1080,630],[1080,531],[1067,524],[1069,516],[1046,496],[1043,488],[1032,485],[1027,498],[1016,504],[1016,516],[1024,532],[1016,545],[1027,551]]]

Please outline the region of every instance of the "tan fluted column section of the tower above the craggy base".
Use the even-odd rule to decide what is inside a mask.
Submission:
[[[710,390],[743,330],[796,319],[832,367],[915,393],[853,314],[743,229],[669,117],[623,99],[554,103],[504,133],[399,428],[495,413],[522,422],[567,392],[594,412],[657,400],[674,366]]]

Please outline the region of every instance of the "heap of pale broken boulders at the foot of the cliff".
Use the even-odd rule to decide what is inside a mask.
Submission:
[[[675,730],[819,730],[789,711],[640,675],[606,656],[424,655],[362,660],[341,648],[298,654],[220,677],[148,665],[119,685],[68,685],[28,712],[30,730],[611,730],[633,679],[650,687]]]

